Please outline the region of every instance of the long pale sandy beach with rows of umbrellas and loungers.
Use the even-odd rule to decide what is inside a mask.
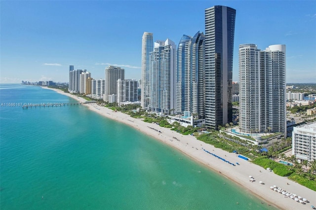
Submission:
[[[43,87],[45,89],[50,89]],[[58,89],[54,90],[60,94],[69,96],[80,103],[84,103],[86,100],[69,93],[64,93]],[[229,153],[221,149],[215,148],[210,144],[206,144],[202,141],[197,140],[193,136],[181,135],[177,132],[170,130],[169,128],[162,128],[157,124],[150,124],[143,122],[141,119],[135,119],[129,115],[121,112],[114,112],[113,110],[102,107],[96,104],[84,104],[89,107],[92,111],[95,111],[105,117],[117,120],[126,125],[132,126],[135,129],[150,135],[157,140],[160,140],[176,149],[179,149],[186,155],[195,159],[199,163],[209,167],[216,173],[219,173],[227,178],[233,180],[245,190],[259,197],[263,205],[275,206],[278,209],[283,210],[305,210],[311,209],[311,205],[316,206],[316,192],[304,187],[296,182],[289,180],[287,177],[281,177],[275,175],[273,172],[264,170],[262,167],[250,163],[249,161],[243,160],[235,153]],[[225,158],[231,163],[238,162],[239,165],[233,166],[224,162],[221,159],[214,157],[213,155],[204,151],[207,150],[217,156]],[[249,181],[249,175],[254,177],[253,182]],[[264,184],[259,183],[262,181]],[[295,193],[297,196],[306,198],[310,203],[301,204],[295,200],[282,195],[272,189],[270,186],[276,185],[288,192]]]

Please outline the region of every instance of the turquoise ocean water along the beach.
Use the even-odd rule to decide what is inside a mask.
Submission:
[[[83,105],[5,105],[75,102],[40,87],[0,85],[1,210],[274,209]]]

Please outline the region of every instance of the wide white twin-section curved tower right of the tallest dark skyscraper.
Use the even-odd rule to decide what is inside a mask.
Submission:
[[[239,45],[239,128],[286,136],[285,45]]]

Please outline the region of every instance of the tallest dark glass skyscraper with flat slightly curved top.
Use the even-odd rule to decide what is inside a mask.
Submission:
[[[233,120],[235,17],[227,6],[205,9],[205,125],[211,129]]]

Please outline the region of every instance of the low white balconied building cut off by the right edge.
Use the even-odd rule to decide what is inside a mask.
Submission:
[[[316,122],[294,127],[292,145],[292,155],[295,155],[297,159],[316,160]]]

